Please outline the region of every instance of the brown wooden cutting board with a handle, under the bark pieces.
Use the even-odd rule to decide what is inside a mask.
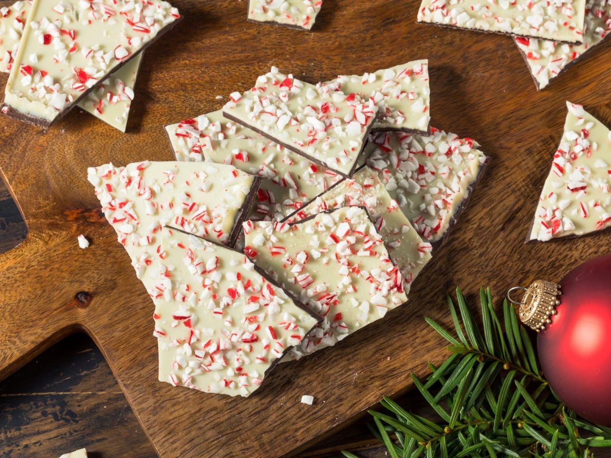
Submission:
[[[445,357],[425,324],[449,323],[455,285],[500,297],[535,277],[558,280],[606,253],[611,238],[525,245],[540,186],[562,134],[565,100],[607,121],[609,45],[538,93],[508,37],[415,24],[418,0],[326,0],[313,32],[246,22],[246,0],[177,0],[185,20],[145,54],[126,134],[73,110],[43,133],[0,117],[0,166],[29,227],[0,255],[0,378],[54,342],[87,332],[164,457],[295,453]],[[6,3],[4,3],[6,4]],[[491,166],[408,305],[333,348],[279,366],[249,399],[157,381],[153,304],[98,209],[86,169],[171,160],[163,125],[219,109],[276,65],[316,82],[430,59],[433,125],[477,139]],[[92,245],[81,250],[78,234]],[[312,406],[302,394],[315,396]]]

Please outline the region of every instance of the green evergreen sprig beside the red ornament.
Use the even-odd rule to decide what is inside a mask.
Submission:
[[[503,325],[490,289],[480,289],[476,325],[459,288],[448,296],[454,334],[426,322],[450,343],[450,356],[414,385],[436,412],[436,421],[384,397],[384,412],[370,410],[370,430],[392,458],[589,457],[591,447],[611,446],[611,429],[577,417],[555,396],[541,373],[532,341],[513,306],[503,302]],[[348,458],[356,455],[342,452]]]

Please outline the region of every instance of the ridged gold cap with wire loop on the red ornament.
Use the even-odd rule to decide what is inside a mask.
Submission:
[[[521,300],[511,296],[517,291],[523,291]],[[551,316],[556,314],[556,306],[560,305],[560,285],[546,280],[536,280],[528,288],[515,286],[507,291],[507,299],[519,306],[520,320],[536,332],[541,332],[551,324]]]

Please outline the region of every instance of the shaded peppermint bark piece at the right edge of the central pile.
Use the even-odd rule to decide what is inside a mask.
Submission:
[[[381,133],[367,145],[367,165],[422,239],[441,242],[488,159],[478,146],[435,128],[430,136]]]

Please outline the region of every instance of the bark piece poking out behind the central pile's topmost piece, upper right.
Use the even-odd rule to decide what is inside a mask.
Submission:
[[[428,134],[431,119],[428,60],[413,60],[365,75],[340,75],[325,84],[345,94],[373,98],[380,116],[376,130]]]

